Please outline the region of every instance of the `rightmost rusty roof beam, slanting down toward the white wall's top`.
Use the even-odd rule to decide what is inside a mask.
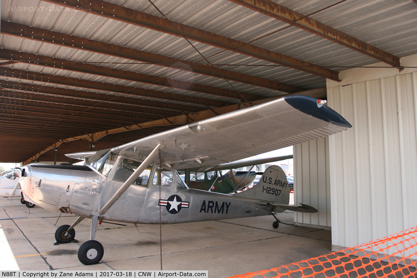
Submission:
[[[285,8],[269,0],[229,0],[246,8],[256,10],[272,18],[276,18],[290,25],[319,35],[327,40],[339,43],[347,48],[358,51],[374,59],[387,63],[391,66],[399,66],[399,57],[386,51],[376,48],[369,43],[358,40],[350,35],[331,28],[317,20],[305,17],[301,13]],[[3,24],[3,23],[2,23]]]

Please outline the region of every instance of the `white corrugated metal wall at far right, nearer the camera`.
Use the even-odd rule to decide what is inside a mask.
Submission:
[[[417,56],[401,65],[417,66]],[[328,104],[353,127],[329,136],[333,250],[417,226],[416,68],[352,69],[340,78],[327,81]]]

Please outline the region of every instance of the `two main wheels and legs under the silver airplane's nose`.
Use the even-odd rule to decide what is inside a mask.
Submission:
[[[62,225],[55,231],[56,243],[70,243],[75,240],[74,227],[80,223],[85,217],[80,216],[73,223],[73,225]],[[99,263],[104,255],[104,248],[101,243],[94,240],[95,231],[97,230],[98,216],[91,218],[91,233],[90,240],[83,243],[78,249],[78,260],[85,265],[95,265]],[[54,242],[54,244],[56,244]]]

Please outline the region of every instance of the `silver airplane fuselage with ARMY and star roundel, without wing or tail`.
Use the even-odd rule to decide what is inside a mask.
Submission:
[[[114,165],[121,159],[123,157],[118,157]],[[266,190],[264,198],[251,198],[247,193],[246,197],[241,197],[239,193],[226,195],[191,189],[175,170],[171,170],[172,184],[159,186],[151,178],[145,185],[131,184],[114,205],[100,215],[100,209],[123,184],[114,179],[116,168],[113,167],[105,177],[90,165],[29,165],[22,168],[20,184],[25,200],[51,212],[74,213],[86,218],[96,215],[99,220],[134,224],[159,223],[160,205],[163,224],[253,217],[284,211],[256,204],[260,200],[274,201]],[[154,177],[156,168],[153,165],[149,177]],[[274,179],[277,178],[274,175]],[[279,189],[289,190],[282,185]]]

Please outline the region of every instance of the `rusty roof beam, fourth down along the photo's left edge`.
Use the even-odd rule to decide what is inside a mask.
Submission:
[[[95,100],[95,101],[106,101],[106,107],[108,106],[107,102],[112,102],[113,107],[110,106],[109,109],[120,109],[120,110],[131,110],[133,107],[136,107],[137,109],[131,110],[139,112],[143,109],[143,107],[137,107],[137,106],[131,106],[129,105],[126,107],[125,104],[132,104],[132,105],[140,105],[140,106],[148,106],[148,107],[157,107],[157,108],[163,108],[163,109],[175,109],[178,111],[186,110],[190,112],[195,111],[201,111],[203,108],[196,107],[196,106],[186,106],[181,104],[170,104],[166,102],[160,102],[160,101],[148,101],[144,99],[133,99],[133,98],[126,98],[123,96],[113,96],[113,95],[107,95],[107,94],[97,94],[92,92],[86,92],[86,91],[75,91],[70,89],[63,89],[63,88],[56,88],[56,87],[49,87],[49,86],[38,86],[28,83],[17,83],[17,82],[11,82],[11,81],[5,81],[0,80],[0,87],[5,89],[13,89],[13,90],[20,90],[20,91],[27,91],[27,92],[39,92],[39,93],[45,93],[45,94],[52,94],[55,96],[71,96],[76,97],[80,99],[88,99],[88,100]],[[0,92],[1,94],[1,92]],[[68,98],[65,98],[65,100],[68,100]],[[58,102],[60,102],[58,100]],[[66,102],[64,102],[66,103]],[[69,104],[69,103],[68,103]],[[97,106],[95,107],[104,107],[104,106]],[[159,113],[168,113],[177,115],[178,113],[173,113],[172,111],[166,111],[166,110],[156,110],[151,113],[151,110],[143,111],[143,113],[150,113],[150,114],[159,114]],[[159,111],[159,112],[157,112]],[[166,115],[166,114],[164,114]]]

